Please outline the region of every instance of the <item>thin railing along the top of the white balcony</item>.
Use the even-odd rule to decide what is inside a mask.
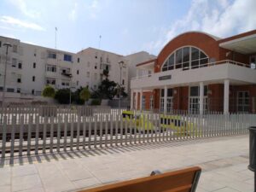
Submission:
[[[173,70],[184,71],[184,70],[189,70],[189,69],[195,69],[195,68],[201,68],[201,67],[210,67],[210,66],[216,66],[216,65],[221,65],[221,64],[231,64],[231,65],[251,68],[251,65],[246,64],[246,63],[242,63],[242,62],[238,62],[238,61],[231,61],[231,60],[223,60],[223,61],[208,62],[206,64],[201,64],[201,65],[197,65],[197,66],[179,67],[179,68],[174,68]],[[153,74],[147,74],[147,75],[142,75],[142,76],[134,77],[134,78],[131,78],[131,80],[132,79],[148,78],[148,77],[151,77]]]

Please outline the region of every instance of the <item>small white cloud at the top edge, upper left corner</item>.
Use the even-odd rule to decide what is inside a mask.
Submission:
[[[9,0],[9,3],[12,3],[23,15],[36,18],[40,16],[40,13],[34,9],[27,8],[26,0]]]

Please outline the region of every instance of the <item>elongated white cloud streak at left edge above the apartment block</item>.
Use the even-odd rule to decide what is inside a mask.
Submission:
[[[11,26],[19,26],[19,27],[22,27],[22,28],[29,28],[29,29],[32,29],[32,30],[44,31],[44,28],[42,26],[39,26],[36,23],[28,22],[28,21],[25,21],[25,20],[19,20],[19,19],[16,19],[14,17],[11,17],[11,16],[3,15],[3,16],[0,17],[0,21],[2,23],[9,24]]]

